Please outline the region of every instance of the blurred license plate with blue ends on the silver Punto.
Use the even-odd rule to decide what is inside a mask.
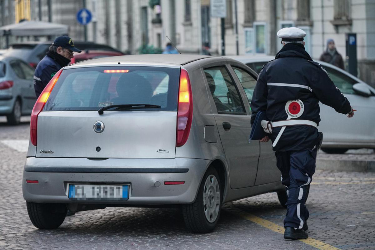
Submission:
[[[74,185],[69,184],[69,199],[120,201],[129,199],[129,185]]]

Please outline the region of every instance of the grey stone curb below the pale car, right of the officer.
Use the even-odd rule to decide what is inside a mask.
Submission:
[[[373,160],[334,160],[318,157],[317,169],[347,171],[347,172],[375,172]]]

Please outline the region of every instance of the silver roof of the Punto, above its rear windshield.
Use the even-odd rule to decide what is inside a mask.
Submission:
[[[120,64],[150,64],[163,66],[178,66],[190,63],[192,61],[211,57],[209,55],[181,55],[181,54],[145,54],[145,55],[119,55],[114,57],[95,58],[68,66],[72,67],[90,67],[90,66],[118,66]],[[67,67],[67,68],[68,68]]]

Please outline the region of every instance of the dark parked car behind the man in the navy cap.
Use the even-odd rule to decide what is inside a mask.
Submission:
[[[39,63],[40,60],[46,55],[46,52],[48,51],[49,46],[51,46],[52,41],[49,42],[22,42],[22,43],[14,43],[10,45],[10,48],[7,52],[5,52],[5,55],[10,57],[19,57],[23,60],[27,61],[30,66],[36,67],[36,65]],[[111,46],[104,45],[104,44],[98,44],[93,42],[81,42],[77,41],[74,42],[74,45],[81,49],[81,50],[101,50],[101,51],[113,51],[117,52],[121,55],[124,55],[123,52],[112,48]]]

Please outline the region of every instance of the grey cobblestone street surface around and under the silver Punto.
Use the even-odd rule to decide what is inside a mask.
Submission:
[[[307,244],[311,241],[286,241],[282,234],[241,216],[243,212],[265,219],[282,230],[285,209],[275,193],[225,204],[217,229],[210,234],[187,232],[177,208],[84,211],[66,217],[58,229],[36,229],[22,197],[26,153],[9,144],[28,139],[29,124],[10,127],[4,121],[0,118],[1,250],[316,249]],[[307,201],[309,239],[320,241],[320,249],[375,249],[374,201],[375,173],[317,171]]]

